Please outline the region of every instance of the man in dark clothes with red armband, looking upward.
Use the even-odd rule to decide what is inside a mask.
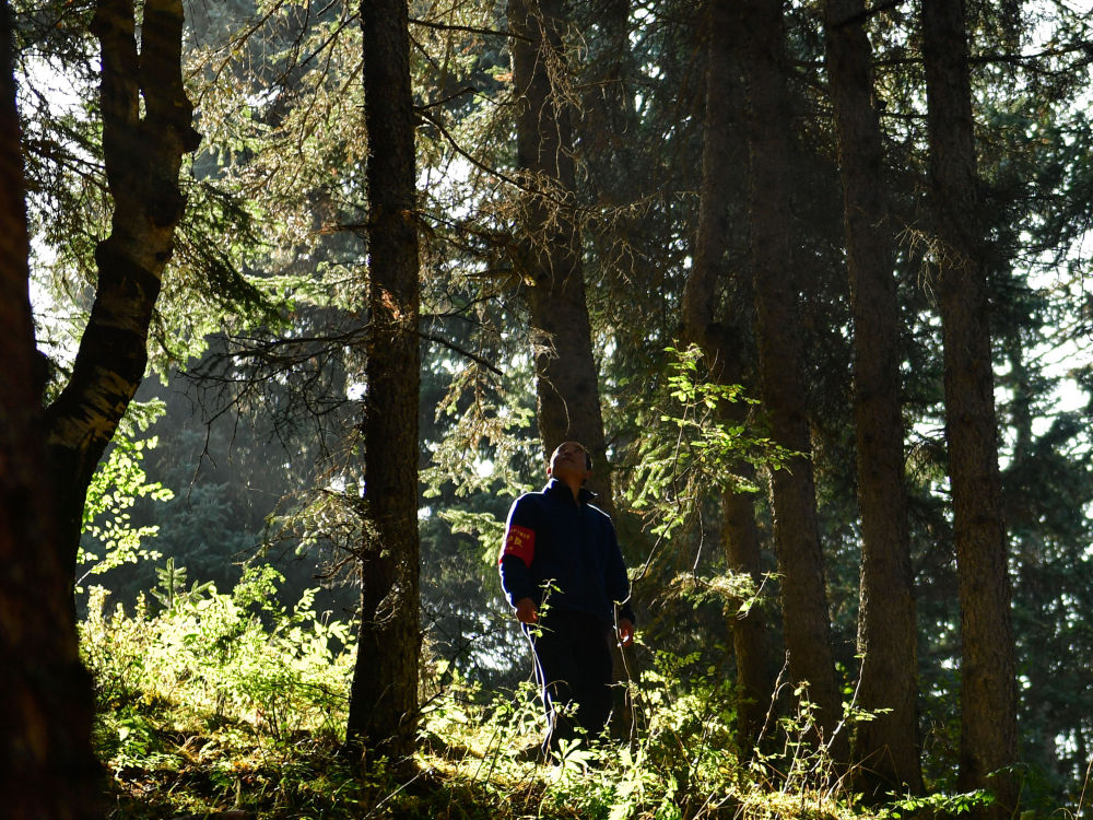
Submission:
[[[630,579],[610,516],[589,502],[588,450],[564,442],[550,457],[542,492],[516,500],[505,525],[501,584],[531,640],[543,688],[543,752],[576,727],[599,735],[611,713],[611,636],[634,640]],[[574,712],[574,708],[576,710]]]

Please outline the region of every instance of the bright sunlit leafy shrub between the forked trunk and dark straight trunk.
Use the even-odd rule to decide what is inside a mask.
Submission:
[[[179,567],[180,569],[180,567]],[[104,613],[93,588],[82,645],[101,701],[160,699],[218,721],[243,721],[261,736],[336,734],[341,726],[354,647],[349,625],[314,611],[315,590],[279,606],[283,576],[250,566],[231,594],[211,584],[179,588],[185,572],[162,574],[166,604],[152,616],[143,598],[132,617]]]

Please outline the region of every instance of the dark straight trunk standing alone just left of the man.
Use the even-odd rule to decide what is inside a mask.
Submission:
[[[418,728],[420,285],[407,0],[364,0],[368,133],[367,394],[361,630],[350,745],[401,760]]]

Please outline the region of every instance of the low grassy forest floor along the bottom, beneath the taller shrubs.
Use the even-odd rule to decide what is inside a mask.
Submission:
[[[837,783],[767,778],[702,730],[565,750],[544,764],[520,750],[537,737],[534,704],[434,700],[418,752],[401,765],[349,760],[337,734],[281,731],[268,715],[226,719],[154,698],[99,717],[109,771],[107,816],[186,818],[431,818],[682,820],[888,818],[855,806]],[[692,727],[694,729],[696,727]]]

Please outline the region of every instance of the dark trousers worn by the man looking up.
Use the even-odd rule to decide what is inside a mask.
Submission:
[[[611,628],[596,616],[552,609],[525,630],[546,708],[544,750],[576,737],[578,726],[599,735],[611,715]]]

